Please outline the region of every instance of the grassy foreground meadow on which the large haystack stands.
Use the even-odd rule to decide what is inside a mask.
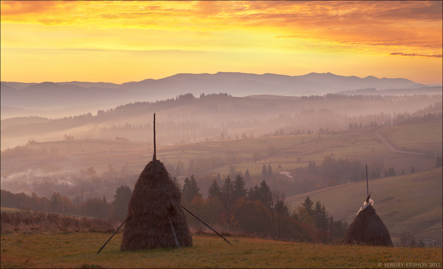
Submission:
[[[323,245],[193,235],[193,246],[120,252],[121,233],[1,235],[1,268],[442,268],[442,248]],[[407,263],[416,263],[414,265]],[[427,263],[417,264],[417,263]],[[432,264],[431,264],[432,263]]]

